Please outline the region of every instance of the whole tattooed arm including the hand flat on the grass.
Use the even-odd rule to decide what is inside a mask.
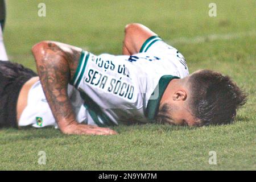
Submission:
[[[76,122],[68,98],[68,82],[75,75],[81,49],[57,42],[40,42],[32,48],[44,94],[52,114],[65,134],[116,134],[108,128],[82,125]]]

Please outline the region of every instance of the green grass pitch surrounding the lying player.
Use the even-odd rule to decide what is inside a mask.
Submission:
[[[230,75],[249,93],[236,123],[200,128],[117,126],[115,136],[67,136],[53,128],[0,130],[0,169],[255,170],[255,1],[7,1],[5,43],[11,60],[35,70],[31,47],[56,40],[95,54],[121,54],[123,28],[138,22],[187,59],[189,71]],[[39,165],[39,151],[46,165]],[[209,151],[217,164],[210,165]]]

